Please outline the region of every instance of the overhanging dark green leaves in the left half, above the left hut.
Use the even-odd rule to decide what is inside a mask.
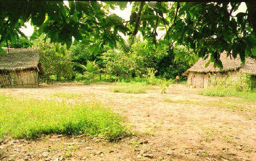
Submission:
[[[109,7],[124,8],[126,2],[106,3],[103,6],[99,1],[69,1],[67,7],[63,1],[0,0],[0,43],[15,42],[17,35],[25,37],[19,28],[31,19],[31,24],[36,26],[31,39],[44,33],[51,42],[65,43],[68,49],[72,37],[92,44],[94,52],[104,44],[114,47],[122,40],[118,32],[126,34],[128,29],[122,24],[122,18],[107,13]]]

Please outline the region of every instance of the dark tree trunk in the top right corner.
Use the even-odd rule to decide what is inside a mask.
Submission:
[[[248,0],[246,2],[248,9],[250,24],[253,27],[254,34],[256,35],[256,2],[254,0]]]

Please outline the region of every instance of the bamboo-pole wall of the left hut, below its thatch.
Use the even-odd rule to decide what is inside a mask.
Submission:
[[[0,71],[0,87],[5,88],[37,88],[38,72],[37,69]]]

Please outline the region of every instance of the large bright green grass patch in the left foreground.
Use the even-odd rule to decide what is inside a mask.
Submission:
[[[71,104],[0,95],[0,137],[32,139],[41,134],[105,136],[128,134],[122,117],[100,103]]]

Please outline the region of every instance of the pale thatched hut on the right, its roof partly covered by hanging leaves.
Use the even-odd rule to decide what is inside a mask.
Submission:
[[[233,59],[226,53],[220,54],[220,60],[223,68],[214,68],[213,62],[205,68],[205,64],[210,58],[204,60],[199,59],[191,68],[183,74],[187,76],[187,83],[194,88],[206,88],[216,84],[216,82],[225,81],[228,76],[232,79],[237,79],[239,73],[248,73],[251,75],[252,87],[256,88],[256,60],[250,57],[246,58],[246,63],[243,65],[239,56]]]

